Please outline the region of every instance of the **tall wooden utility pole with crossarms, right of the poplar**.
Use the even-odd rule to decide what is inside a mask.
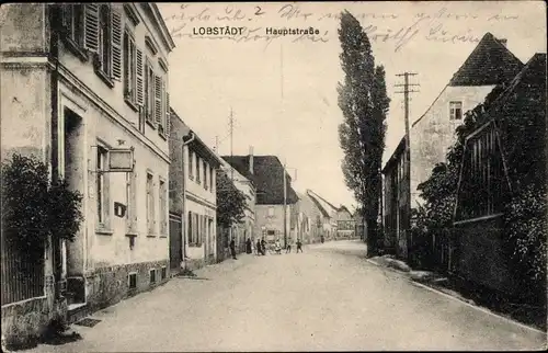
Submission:
[[[400,92],[396,92],[396,93],[403,93],[403,104],[404,104],[404,118],[406,118],[406,153],[404,153],[404,163],[406,163],[406,175],[404,176],[404,180],[406,180],[406,184],[407,184],[407,219],[409,221],[409,224],[404,225],[406,228],[409,228],[411,226],[411,150],[410,150],[410,143],[409,143],[409,139],[410,139],[410,134],[409,134],[409,93],[414,93],[414,92],[419,92],[419,91],[413,91],[412,89],[410,90],[410,87],[414,87],[414,86],[420,86],[419,83],[409,83],[409,77],[410,76],[415,76],[416,73],[414,72],[403,72],[403,73],[398,73],[396,76],[398,77],[402,77],[403,76],[403,84],[396,84],[396,87],[403,87],[403,91],[400,91]],[[398,209],[399,209],[399,205],[398,205]],[[401,215],[400,215],[400,212],[398,210],[397,213],[397,229],[398,229],[398,232],[403,230],[401,229],[401,226],[400,226],[400,219],[401,219]],[[407,229],[406,229],[407,230]],[[411,246],[410,244],[410,240],[409,238],[407,239],[407,244],[408,244],[408,249],[409,247]],[[408,253],[409,253],[409,250],[408,250]]]

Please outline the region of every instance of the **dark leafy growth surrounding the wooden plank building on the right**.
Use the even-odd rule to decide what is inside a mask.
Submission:
[[[452,227],[465,139],[494,119],[511,185],[504,205],[504,249],[516,264],[517,277],[537,288],[544,288],[546,283],[548,227],[546,106],[539,104],[546,102],[543,80],[539,78],[540,87],[528,84],[527,89],[514,90],[504,101],[504,87],[499,86],[482,104],[466,113],[464,124],[456,129],[457,141],[447,152],[447,162],[437,164],[430,179],[419,185],[425,205],[419,209],[416,225],[426,235]]]

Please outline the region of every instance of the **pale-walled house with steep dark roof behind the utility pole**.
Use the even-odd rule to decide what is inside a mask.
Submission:
[[[418,186],[430,178],[436,163],[446,160],[465,112],[483,102],[498,84],[510,82],[523,67],[506,48],[505,39],[487,33],[427,111],[412,124],[410,150],[406,150],[403,137],[387,161],[383,170],[385,243],[399,257],[408,257],[411,208],[423,204]]]

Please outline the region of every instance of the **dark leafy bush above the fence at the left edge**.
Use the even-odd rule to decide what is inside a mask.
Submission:
[[[2,232],[20,250],[38,252],[49,236],[73,240],[83,219],[82,195],[66,181],[53,182],[34,156],[2,162]]]

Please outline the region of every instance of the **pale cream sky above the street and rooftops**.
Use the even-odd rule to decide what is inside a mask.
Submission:
[[[341,170],[338,126],[339,14],[362,23],[376,65],[386,70],[388,132],[384,162],[404,133],[408,71],[410,122],[418,119],[491,32],[526,62],[546,53],[544,1],[158,3],[174,42],[170,54],[170,103],[221,156],[275,155],[286,162],[296,191],[313,190],[334,205],[356,202]],[[275,30],[313,29],[312,35]],[[209,30],[208,30],[209,29]],[[217,29],[217,30],[215,30]],[[225,34],[225,31],[229,31]],[[209,35],[208,35],[209,31]],[[217,31],[217,34],[215,34]],[[270,31],[270,32],[269,32]],[[204,34],[201,34],[204,33]],[[230,143],[229,116],[233,134]]]

